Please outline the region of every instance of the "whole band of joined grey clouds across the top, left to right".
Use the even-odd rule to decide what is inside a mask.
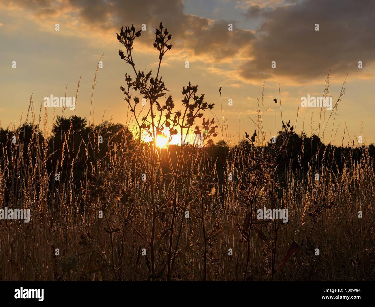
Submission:
[[[1,0],[0,0],[1,1]],[[43,14],[58,10],[53,0],[12,1]],[[240,18],[260,18],[255,31],[236,27],[235,21],[210,20],[184,12],[182,0],[64,0],[60,7],[71,7],[92,31],[115,35],[121,26],[147,24],[148,31],[139,42],[150,45],[153,29],[160,21],[174,34],[177,49],[190,51],[207,61],[239,59],[238,75],[244,80],[289,77],[301,82],[326,76],[332,62],[333,73],[360,72],[375,63],[375,1],[303,0],[285,5],[251,6]],[[204,3],[202,3],[204,5]],[[233,31],[228,31],[228,23]],[[320,30],[315,31],[315,24]],[[246,53],[247,52],[247,53]],[[251,59],[251,60],[250,60]],[[276,61],[276,69],[271,62]],[[240,64],[238,64],[240,63]]]

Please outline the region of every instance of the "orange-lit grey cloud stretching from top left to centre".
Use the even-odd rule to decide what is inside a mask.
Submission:
[[[52,0],[16,0],[12,2],[42,14],[55,10]],[[204,5],[204,4],[202,4]],[[154,27],[163,22],[174,35],[172,44],[182,50],[190,50],[193,55],[207,55],[211,60],[235,57],[242,48],[250,46],[254,34],[237,28],[234,21],[211,21],[207,18],[184,13],[182,0],[65,0],[61,8],[71,7],[78,12],[81,20],[92,27],[108,31],[108,35],[119,32],[121,26],[134,24],[137,29],[147,25],[146,33],[139,42],[151,45]],[[228,24],[233,23],[233,31]]]

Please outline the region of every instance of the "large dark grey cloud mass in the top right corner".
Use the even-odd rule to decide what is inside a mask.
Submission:
[[[250,7],[247,16],[263,18],[251,56],[240,67],[245,79],[288,76],[308,81],[333,72],[359,72],[375,62],[375,1],[306,0],[275,9]],[[319,31],[315,31],[319,24]],[[271,62],[276,61],[276,69]]]

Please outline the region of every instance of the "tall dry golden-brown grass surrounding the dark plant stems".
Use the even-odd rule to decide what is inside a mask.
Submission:
[[[69,138],[65,143],[69,144]],[[19,154],[23,146],[22,142],[14,144],[12,155],[2,157],[0,201],[2,208],[30,209],[31,220],[30,223],[1,221],[1,280],[166,279],[168,225],[172,216],[171,200],[166,198],[173,193],[170,180],[162,176],[162,157],[156,161],[155,193],[158,208],[162,209],[156,215],[156,273],[151,274],[151,195],[147,180],[141,180],[139,170],[143,166],[135,154],[126,147],[111,148],[108,152],[110,163],[105,159],[98,160],[93,165],[95,179],[87,182],[86,189],[77,192],[73,176],[61,182],[57,189],[49,188],[53,176],[45,168],[48,159],[46,142],[39,144],[34,135],[28,145],[30,160],[31,153],[35,155],[33,164],[23,161]],[[150,154],[147,151],[152,148],[142,150],[147,156]],[[273,267],[278,267],[293,241],[299,244],[299,249],[274,274],[274,280],[292,280],[305,253],[297,280],[374,279],[375,178],[368,150],[365,148],[363,153],[360,163],[345,166],[339,174],[322,169],[324,175],[317,182],[311,168],[306,180],[288,172],[285,188],[280,195],[273,197],[277,208],[283,204],[289,210],[290,222],[279,228],[275,255],[265,241],[251,232],[246,280],[271,279],[273,258]],[[191,171],[198,177],[191,175],[190,182],[187,180],[177,193],[175,231],[178,246],[174,241],[171,279],[202,280],[206,272],[207,280],[242,280],[247,261],[246,242],[236,224],[242,225],[247,207],[241,201],[240,185],[252,186],[253,178],[249,178],[246,170],[238,165],[251,165],[252,157],[243,153],[241,148],[234,148],[234,159],[226,166],[226,179],[222,184],[216,170],[204,163],[203,150],[190,154],[192,162],[187,161],[183,166],[181,180],[188,178]],[[74,157],[64,159],[74,164]],[[12,169],[6,167],[9,160],[12,160]],[[235,163],[236,160],[241,163]],[[208,174],[208,177],[200,178],[202,174]],[[228,174],[236,174],[238,180],[228,181]],[[199,190],[204,187],[196,189],[203,181],[212,184],[205,194]],[[9,184],[15,187],[16,193],[8,190],[11,197],[5,203],[3,196]],[[215,192],[212,192],[213,187]],[[220,190],[222,195],[219,195]],[[270,208],[266,184],[255,195],[254,207]],[[335,204],[320,214],[312,229],[314,220],[309,213],[315,209],[314,200],[321,202],[323,197],[335,201]],[[78,205],[80,198],[84,199],[82,212]],[[104,212],[102,219],[98,217],[99,211]],[[185,211],[190,212],[189,219],[185,218]],[[358,211],[363,212],[362,219],[358,217]],[[201,216],[204,216],[205,228],[208,229],[206,234],[202,232]],[[210,232],[219,229],[219,235],[207,240]],[[260,225],[259,229],[269,242],[274,240],[272,223]],[[57,248],[60,249],[59,256],[55,256]],[[142,256],[143,248],[146,249],[145,256]],[[316,248],[319,256],[315,256]],[[233,249],[232,256],[228,255],[229,249]]]

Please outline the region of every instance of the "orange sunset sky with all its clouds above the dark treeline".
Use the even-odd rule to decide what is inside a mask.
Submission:
[[[235,145],[245,131],[252,134],[257,100],[263,96],[268,138],[281,130],[282,116],[297,133],[319,134],[325,144],[352,144],[359,136],[363,144],[375,143],[372,0],[0,0],[1,127],[26,120],[31,94],[38,116],[44,97],[65,92],[75,97],[79,80],[75,110],[65,110],[65,116],[76,114],[95,124],[125,123],[128,107],[120,86],[131,67],[118,55],[123,46],[116,32],[121,26],[134,24],[140,30],[145,24],[134,45],[134,61],[139,70],[155,71],[158,54],[152,42],[160,21],[173,34],[160,74],[175,104],[180,105],[182,87],[191,81],[205,101],[215,103],[213,112],[221,121],[222,87],[228,133],[216,141]],[[346,78],[337,109],[332,114],[327,108],[321,113],[321,108],[301,106],[302,97],[324,95],[329,70],[327,96],[333,97],[333,105]],[[42,118],[44,112],[43,107]],[[47,109],[49,127],[61,112]],[[206,112],[205,117],[213,115]],[[319,121],[327,127],[324,134]]]

